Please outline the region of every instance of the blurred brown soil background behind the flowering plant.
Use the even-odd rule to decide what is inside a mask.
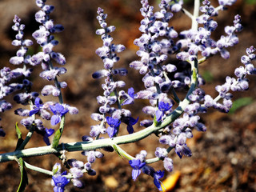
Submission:
[[[186,9],[193,11],[193,1],[187,0]],[[157,5],[159,1],[150,1],[151,5]],[[98,110],[96,97],[102,94],[99,89],[102,80],[94,80],[91,74],[102,69],[102,60],[95,54],[95,50],[102,46],[101,38],[95,34],[99,28],[96,19],[98,6],[108,14],[108,25],[116,26],[111,36],[115,44],[123,44],[126,51],[118,56],[121,58],[116,67],[125,66],[129,70],[126,77],[119,79],[126,81],[126,90],[134,86],[135,92],[142,90],[142,76],[138,71],[129,69],[130,62],[138,59],[135,54],[138,48],[134,46],[134,38],[140,37],[138,30],[139,22],[142,19],[140,14],[139,0],[73,0],[47,1],[47,4],[55,6],[50,14],[54,23],[62,24],[65,30],[56,34],[59,44],[54,48],[66,57],[66,74],[60,77],[61,81],[68,83],[68,88],[63,90],[64,102],[70,106],[78,107],[79,114],[66,115],[66,128],[61,142],[82,141],[82,135],[89,134],[90,126],[97,124],[90,119],[90,114]],[[217,5],[217,0],[212,1]],[[34,0],[0,0],[0,66],[9,66],[10,57],[14,56],[17,47],[11,45],[15,33],[11,30],[14,14],[22,18],[26,24],[25,36],[30,38],[34,30],[38,29],[38,23],[34,22],[34,14],[38,11]],[[214,56],[203,63],[200,67],[200,74],[206,80],[203,89],[206,94],[216,96],[214,87],[225,82],[226,75],[234,76],[234,69],[241,65],[240,58],[246,54],[246,47],[256,46],[256,2],[254,0],[238,0],[234,6],[226,11],[220,11],[217,19],[218,28],[214,38],[218,39],[224,32],[225,26],[232,26],[234,15],[242,15],[242,26],[244,30],[238,34],[240,40],[237,46],[230,48],[230,59],[224,60],[219,55]],[[190,28],[190,19],[182,13],[178,13],[170,21],[175,30],[181,31]],[[34,45],[30,49],[31,54],[38,50]],[[40,67],[34,70],[31,79],[34,79],[33,90],[42,90],[48,82],[38,78]],[[181,159],[174,153],[170,157],[174,160],[174,172],[165,174],[165,178],[175,174],[175,186],[172,191],[256,191],[256,78],[250,77],[250,89],[242,93],[234,93],[235,107],[229,114],[222,114],[216,110],[202,115],[202,121],[206,122],[206,133],[194,131],[194,138],[188,140],[188,146],[192,150],[191,158]],[[242,98],[242,99],[239,99]],[[43,102],[51,98],[42,98]],[[12,101],[12,97],[7,98]],[[136,101],[134,106],[127,106],[133,112],[133,116],[147,118],[142,114],[142,107],[146,106],[145,101]],[[13,115],[14,109],[21,106],[14,106],[13,110],[1,114],[2,126],[6,131],[6,137],[0,138],[0,153],[11,152],[15,149],[17,136],[14,130],[15,122],[21,118]],[[47,125],[47,124],[46,124]],[[23,137],[26,129],[20,126]],[[50,128],[50,127],[48,127]],[[57,128],[56,128],[57,129]],[[142,127],[134,126],[134,130],[142,130]],[[126,134],[124,127],[120,134]],[[42,137],[33,135],[27,147],[45,146]],[[140,150],[148,151],[148,158],[154,157],[154,150],[158,144],[158,138],[154,135],[136,144],[122,146],[129,154],[138,154]],[[92,177],[85,175],[82,182],[84,189],[78,189],[72,184],[66,186],[66,191],[157,191],[153,178],[141,174],[136,182],[131,178],[131,167],[126,159],[118,154],[104,152],[105,157],[98,159],[94,165],[97,175]],[[67,158],[77,158],[86,161],[86,157],[80,152],[67,154]],[[58,158],[54,155],[28,158],[26,162],[34,166],[40,166],[51,170]],[[153,165],[155,169],[163,170],[162,162]],[[51,179],[44,174],[27,170],[29,186],[26,191],[52,191]],[[0,165],[0,191],[16,191],[20,179],[18,165],[16,162],[5,162]],[[165,179],[164,178],[164,179]]]

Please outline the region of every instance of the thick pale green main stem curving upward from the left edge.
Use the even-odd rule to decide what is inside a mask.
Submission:
[[[170,123],[174,122],[184,111],[187,105],[190,104],[190,100],[188,96],[195,90],[198,81],[198,61],[195,60],[191,62],[191,85],[190,90],[186,94],[186,98],[178,103],[178,107],[172,111],[158,126],[154,124],[145,128],[144,130],[140,130],[134,134],[122,135],[116,138],[104,138],[94,140],[93,142],[71,142],[64,144],[64,148],[66,151],[81,151],[81,150],[96,150],[99,148],[103,148],[106,146],[113,146],[126,144],[130,142],[137,142],[142,140],[143,138],[148,137],[150,134],[154,134],[158,130],[169,126]],[[16,150],[14,152],[0,154],[0,162],[8,162],[14,161],[17,158],[27,158],[27,157],[34,157],[34,156],[41,156],[45,154],[58,154],[61,150],[63,150],[62,145],[58,145],[56,148],[51,146],[41,146],[41,147],[34,147],[26,150]]]

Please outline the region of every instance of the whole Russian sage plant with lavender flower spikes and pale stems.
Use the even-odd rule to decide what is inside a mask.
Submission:
[[[118,53],[126,50],[126,47],[112,42],[110,34],[115,30],[115,26],[107,25],[107,14],[102,8],[98,8],[97,19],[100,28],[96,30],[96,34],[102,38],[102,46],[96,50],[96,54],[102,59],[103,65],[102,70],[95,71],[92,77],[102,79],[102,95],[97,97],[98,113],[91,114],[95,123],[90,126],[90,135],[82,136],[81,142],[72,143],[59,143],[64,133],[66,114],[78,114],[77,108],[63,101],[62,89],[68,85],[58,80],[58,76],[66,74],[66,68],[63,66],[66,59],[61,53],[54,51],[54,46],[58,45],[54,34],[62,32],[64,28],[50,18],[54,6],[47,5],[46,0],[35,1],[40,9],[35,14],[35,20],[40,26],[32,34],[34,41],[24,38],[25,25],[22,24],[21,18],[15,15],[12,29],[17,34],[12,44],[18,46],[18,50],[16,55],[10,58],[10,63],[17,67],[14,70],[9,67],[1,70],[0,106],[1,112],[10,110],[12,103],[4,98],[13,94],[14,102],[20,106],[14,110],[14,114],[22,116],[20,124],[26,127],[26,130],[21,131],[18,123],[16,124],[17,147],[14,152],[0,154],[0,162],[18,162],[22,174],[18,191],[26,187],[26,169],[48,174],[52,178],[54,191],[65,190],[65,186],[70,182],[74,186],[82,187],[84,185],[79,178],[85,173],[96,174],[93,163],[96,158],[104,156],[103,150],[115,151],[119,156],[126,158],[134,180],[142,173],[148,174],[158,190],[163,190],[160,179],[164,176],[164,170],[160,170],[162,167],[154,170],[150,164],[162,161],[164,169],[171,172],[174,169],[169,154],[171,150],[174,150],[179,158],[190,157],[192,151],[186,145],[187,138],[193,137],[193,129],[206,131],[206,126],[200,121],[200,114],[207,113],[209,108],[229,112],[232,93],[248,90],[247,76],[256,74],[253,64],[255,48],[250,46],[241,58],[242,65],[234,70],[234,76],[227,76],[224,84],[215,87],[217,97],[202,90],[205,81],[199,73],[200,64],[215,54],[228,59],[228,48],[238,44],[236,34],[242,30],[239,15],[234,15],[234,22],[225,27],[225,34],[221,38],[212,38],[218,27],[214,20],[218,12],[226,10],[226,6],[232,6],[234,2],[235,0],[218,0],[219,6],[214,7],[208,0],[202,1],[202,5],[199,0],[194,0],[194,13],[190,14],[183,8],[182,0],[161,0],[158,11],[155,12],[147,0],[142,0],[142,21],[139,27],[142,34],[134,40],[134,45],[138,46],[138,60],[131,62],[130,67],[142,74],[145,86],[143,90],[126,87],[126,82],[122,80],[128,70],[116,68],[115,63],[119,60]],[[174,26],[170,26],[171,18],[180,11],[191,19],[191,26],[187,30],[177,31]],[[42,49],[30,55],[28,49],[34,42]],[[178,62],[172,63],[171,56]],[[49,85],[42,88],[41,93],[33,91],[30,78],[32,69],[39,66],[42,69],[40,78],[49,82]],[[180,92],[185,93],[185,96],[178,96],[177,93]],[[52,97],[46,97],[48,95],[54,96],[55,99],[51,100]],[[148,118],[141,119],[128,110],[137,99],[149,101],[148,106],[142,106],[142,111]],[[50,121],[51,127],[44,126],[46,121]],[[135,124],[139,124],[142,129],[134,130]],[[127,134],[119,134],[123,127],[121,125],[125,125]],[[4,130],[1,127],[2,137],[6,136]],[[22,133],[26,133],[26,138],[22,138]],[[26,147],[34,133],[42,135],[46,146]],[[146,150],[141,150],[133,157],[120,146],[140,141],[151,134],[158,136],[161,144],[155,148],[155,158],[147,158]],[[85,162],[74,158],[67,159],[66,153],[71,151],[82,151],[86,156]],[[60,160],[52,170],[30,165],[23,160],[45,154],[55,154]]]

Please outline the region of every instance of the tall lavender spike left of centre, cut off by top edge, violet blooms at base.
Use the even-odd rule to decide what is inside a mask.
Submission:
[[[41,24],[39,30],[36,30],[32,36],[37,41],[37,43],[42,47],[42,51],[34,54],[32,56],[26,56],[24,62],[30,64],[31,66],[38,66],[41,64],[42,72],[39,74],[41,78],[48,81],[54,81],[54,85],[46,85],[42,88],[42,96],[49,94],[54,95],[59,98],[62,102],[61,88],[66,87],[66,82],[58,82],[57,76],[60,74],[65,74],[66,69],[64,67],[54,67],[52,59],[58,64],[64,65],[66,59],[60,53],[55,53],[53,48],[58,45],[58,41],[54,39],[54,33],[61,32],[64,28],[61,25],[54,25],[54,21],[50,19],[49,14],[54,10],[54,6],[46,5],[46,1],[37,1],[37,5],[41,8],[36,14],[35,19]],[[16,28],[13,27],[14,30]],[[15,45],[18,43],[15,43]],[[10,62],[15,62],[18,58],[13,57]],[[23,100],[30,102],[31,110],[18,109],[15,110],[15,114],[21,115],[22,117],[30,116],[29,118],[23,118],[21,124],[30,129],[34,125],[35,130],[38,134],[42,134],[44,141],[47,145],[50,145],[49,137],[54,134],[53,129],[47,129],[43,126],[41,119],[36,119],[34,114],[38,114],[42,119],[50,120],[51,125],[55,126],[61,122],[62,116],[67,112],[70,114],[77,114],[78,110],[75,107],[68,106],[66,104],[59,104],[58,102],[46,102],[42,103],[41,99],[38,98],[39,94],[36,94],[34,98],[24,97],[24,95],[16,95],[14,98],[20,103],[25,103]],[[34,105],[33,105],[34,102]],[[51,116],[50,112],[54,115]]]

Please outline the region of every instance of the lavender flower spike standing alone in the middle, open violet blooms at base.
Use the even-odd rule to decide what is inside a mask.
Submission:
[[[91,126],[90,136],[99,137],[99,134],[108,134],[110,138],[114,138],[118,134],[119,126],[121,122],[126,123],[127,130],[129,134],[134,132],[133,125],[138,122],[131,117],[130,110],[122,109],[122,106],[134,103],[134,88],[130,88],[128,93],[124,90],[119,90],[126,86],[123,81],[114,81],[114,76],[116,75],[126,75],[127,70],[124,68],[114,69],[114,63],[118,62],[119,58],[117,53],[125,50],[123,45],[114,45],[112,43],[113,38],[111,38],[110,33],[115,30],[114,26],[107,26],[106,17],[101,8],[98,8],[98,22],[101,29],[96,30],[96,34],[101,35],[103,46],[96,50],[96,54],[102,58],[104,70],[98,70],[92,75],[93,78],[105,78],[105,84],[102,84],[102,89],[104,90],[103,96],[98,96],[98,104],[102,105],[99,107],[99,113],[94,113],[91,115],[95,121],[100,121],[101,123],[97,126]],[[113,105],[117,104],[117,108]],[[110,116],[106,116],[109,114]],[[106,129],[106,123],[109,125]]]

